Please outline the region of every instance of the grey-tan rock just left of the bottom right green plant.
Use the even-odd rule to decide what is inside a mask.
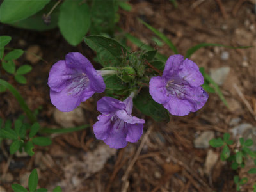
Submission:
[[[208,148],[209,141],[214,138],[213,131],[204,131],[194,140],[195,148]]]

